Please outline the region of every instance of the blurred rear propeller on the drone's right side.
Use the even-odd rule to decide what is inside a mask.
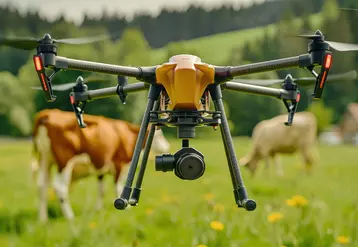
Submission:
[[[354,80],[357,78],[357,72],[351,70],[341,74],[329,75],[326,82],[339,82],[343,80]],[[299,84],[300,86],[310,86],[316,83],[315,77],[300,77],[292,78],[292,81]],[[272,86],[277,83],[283,83],[283,79],[234,79],[234,82],[240,82],[245,84],[253,84],[257,86]]]

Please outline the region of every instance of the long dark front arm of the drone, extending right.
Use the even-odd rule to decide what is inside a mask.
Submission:
[[[215,67],[215,82],[223,83],[233,79],[235,76],[310,65],[311,57],[309,54],[305,54],[241,66]]]

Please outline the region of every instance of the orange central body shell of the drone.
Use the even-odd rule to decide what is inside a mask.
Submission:
[[[164,86],[171,110],[200,110],[206,87],[214,83],[214,67],[194,55],[173,56],[156,69],[156,80]]]

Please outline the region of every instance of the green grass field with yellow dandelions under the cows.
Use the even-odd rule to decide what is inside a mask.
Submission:
[[[180,145],[172,143],[175,152]],[[282,157],[282,178],[273,169],[270,174],[260,169],[254,178],[243,170],[249,195],[258,204],[246,212],[234,206],[220,139],[197,139],[192,145],[206,158],[206,173],[199,180],[155,172],[149,163],[137,208],[114,209],[108,176],[105,209],[96,212],[96,180],[86,178],[71,191],[77,218],[66,222],[52,199],[51,219],[40,225],[29,173],[30,143],[1,143],[0,246],[358,246],[356,147],[320,146],[321,160],[311,176],[305,175],[298,155]],[[249,140],[236,138],[235,147],[241,157]],[[307,201],[288,200],[297,195]]]

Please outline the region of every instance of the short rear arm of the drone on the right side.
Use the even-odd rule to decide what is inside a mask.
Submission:
[[[222,88],[231,91],[239,91],[239,92],[272,96],[279,99],[289,97],[290,95],[290,92],[284,89],[268,88],[263,86],[255,86],[255,85],[249,85],[239,82],[230,82],[230,81],[222,84]]]

